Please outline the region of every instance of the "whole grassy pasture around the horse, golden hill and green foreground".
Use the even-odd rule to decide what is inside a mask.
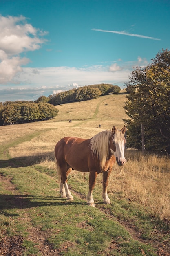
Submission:
[[[121,93],[64,104],[53,120],[0,127],[0,255],[170,256],[168,157],[126,150],[109,178],[112,204],[103,203],[101,174],[96,207],[86,204],[88,173],[68,176],[74,201],[59,195],[57,141],[121,129],[125,100]]]

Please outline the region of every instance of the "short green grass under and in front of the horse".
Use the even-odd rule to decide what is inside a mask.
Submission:
[[[113,196],[112,205],[102,204],[101,191],[98,194],[99,187],[94,193],[95,200],[99,202],[95,208],[86,205],[85,200],[76,195],[73,202],[67,202],[59,197],[58,185],[53,175],[39,172],[37,168],[2,169],[3,175],[12,177],[20,197],[18,205],[15,202],[16,195],[9,195],[6,205],[3,203],[1,230],[6,229],[5,232],[9,236],[22,234],[26,238],[26,230],[32,225],[46,232],[46,240],[62,255],[104,255],[103,252],[108,250],[112,240],[117,247],[109,252],[110,255],[141,255],[143,251],[146,255],[156,255],[155,249],[133,240],[128,231],[117,221],[118,217],[119,220],[131,220],[147,239],[148,236],[150,237],[153,224],[142,209],[135,204],[118,201]],[[70,178],[69,183],[74,190],[77,183],[75,179]],[[81,186],[77,187],[77,192],[85,194],[86,189],[85,179]],[[0,203],[2,208],[2,202]],[[25,214],[31,218],[30,224],[23,223]],[[23,246],[26,250],[29,247],[29,253],[37,250],[35,243],[28,241],[24,242]]]

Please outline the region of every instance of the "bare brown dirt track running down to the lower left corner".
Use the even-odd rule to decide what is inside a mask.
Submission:
[[[8,176],[3,176],[0,174],[0,184],[3,184],[3,189],[6,190],[9,194],[15,195],[15,198],[11,198],[11,204],[13,201],[18,207],[19,211],[22,211],[24,207],[24,200],[22,195],[16,189],[15,185],[11,182],[11,178]],[[7,198],[8,204],[10,203],[10,196]],[[9,256],[20,256],[24,253],[24,248],[22,246],[24,239],[29,240],[33,243],[36,243],[36,247],[39,252],[44,256],[57,256],[60,255],[60,252],[54,250],[51,245],[47,242],[46,237],[48,234],[43,232],[39,227],[33,227],[31,223],[31,218],[29,216],[28,210],[24,209],[24,218],[20,219],[22,223],[29,223],[29,228],[26,230],[28,236],[26,238],[22,236],[5,236],[0,242],[0,255],[9,255]]]

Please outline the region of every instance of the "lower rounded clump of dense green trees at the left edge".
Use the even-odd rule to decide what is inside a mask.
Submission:
[[[0,104],[0,125],[49,120],[56,115],[57,108],[45,102],[7,101]]]

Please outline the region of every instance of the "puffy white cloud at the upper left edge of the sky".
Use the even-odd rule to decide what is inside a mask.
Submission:
[[[0,83],[20,83],[16,75],[29,62],[18,54],[35,51],[45,42],[43,31],[26,23],[24,16],[0,16]],[[46,32],[44,32],[46,34]],[[15,77],[15,78],[14,78]]]

